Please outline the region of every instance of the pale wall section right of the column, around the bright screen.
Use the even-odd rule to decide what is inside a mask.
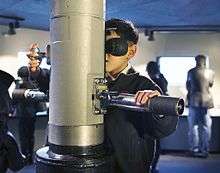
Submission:
[[[148,41],[140,33],[140,48],[133,64],[144,72],[146,62],[156,60],[158,56],[195,56],[205,54],[209,56],[209,65],[215,71],[213,86],[214,102],[220,107],[220,33],[156,33],[155,41]],[[175,68],[175,67],[174,67]],[[178,69],[176,69],[178,73]],[[170,95],[184,96],[185,86],[168,88]]]

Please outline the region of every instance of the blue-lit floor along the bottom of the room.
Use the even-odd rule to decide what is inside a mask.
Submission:
[[[183,153],[161,155],[159,170],[159,173],[219,173],[220,154],[211,154],[208,159],[187,157]],[[35,169],[31,165],[18,173],[35,173]]]

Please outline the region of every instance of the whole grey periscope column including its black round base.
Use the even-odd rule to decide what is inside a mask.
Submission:
[[[93,114],[93,83],[104,77],[104,0],[51,1],[49,146],[37,173],[110,173],[103,115]]]

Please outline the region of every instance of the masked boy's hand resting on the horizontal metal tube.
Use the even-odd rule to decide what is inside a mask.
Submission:
[[[144,105],[148,102],[150,98],[160,96],[160,92],[157,90],[143,90],[143,91],[138,91],[135,94],[135,101],[137,105]]]

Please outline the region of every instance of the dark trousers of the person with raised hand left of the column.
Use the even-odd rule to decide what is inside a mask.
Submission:
[[[35,117],[21,117],[19,120],[21,152],[29,161],[33,157],[35,121]]]

